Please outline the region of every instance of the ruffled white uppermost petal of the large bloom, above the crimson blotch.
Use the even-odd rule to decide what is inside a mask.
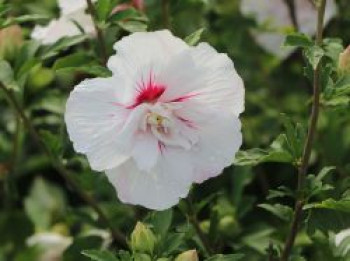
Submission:
[[[108,61],[108,68],[115,74],[128,78],[133,83],[125,96],[130,101],[135,96],[138,83],[147,82],[182,50],[189,48],[169,31],[139,32],[124,37],[114,45],[117,51]]]

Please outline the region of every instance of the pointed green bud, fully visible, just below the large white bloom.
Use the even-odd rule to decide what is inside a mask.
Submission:
[[[153,232],[143,223],[137,222],[131,233],[131,249],[134,252],[152,254],[155,243],[156,237]]]

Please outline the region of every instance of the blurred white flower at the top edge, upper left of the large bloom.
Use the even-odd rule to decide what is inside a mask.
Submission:
[[[46,26],[36,25],[31,37],[43,44],[52,44],[66,36],[81,34],[81,29],[89,35],[95,34],[91,16],[87,14],[86,0],[58,0],[60,17]],[[79,26],[78,26],[79,25]]]

